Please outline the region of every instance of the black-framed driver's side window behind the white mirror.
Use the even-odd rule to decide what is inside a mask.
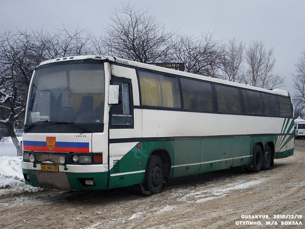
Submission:
[[[119,104],[113,104],[111,107],[111,124],[131,125],[133,124],[130,90],[131,83],[114,80],[113,85],[119,85]]]

